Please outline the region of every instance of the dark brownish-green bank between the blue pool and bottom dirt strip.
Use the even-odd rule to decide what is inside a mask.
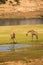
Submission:
[[[32,45],[25,48],[10,49],[10,51],[0,51],[0,63],[8,61],[28,61],[30,59],[41,58],[43,58],[43,45]]]

